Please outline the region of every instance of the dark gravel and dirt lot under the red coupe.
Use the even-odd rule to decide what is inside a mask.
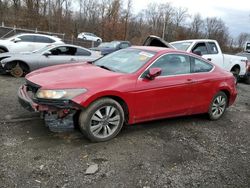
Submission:
[[[236,104],[219,121],[143,123],[90,143],[77,130],[52,133],[24,111],[16,97],[23,81],[0,76],[0,187],[250,187],[248,85],[238,85]],[[91,164],[98,171],[85,175]]]

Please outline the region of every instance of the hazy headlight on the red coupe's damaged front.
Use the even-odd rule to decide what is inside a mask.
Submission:
[[[37,98],[42,99],[72,99],[77,95],[85,93],[86,89],[63,89],[63,90],[47,90],[39,89],[36,93]]]

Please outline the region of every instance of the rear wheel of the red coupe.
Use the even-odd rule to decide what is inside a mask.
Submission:
[[[217,93],[211,101],[208,115],[210,120],[217,120],[223,116],[228,104],[228,97],[224,92]]]

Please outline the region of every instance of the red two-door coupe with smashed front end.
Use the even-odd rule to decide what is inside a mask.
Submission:
[[[23,107],[54,118],[56,126],[77,119],[99,142],[114,138],[125,123],[200,113],[217,120],[237,91],[230,72],[195,54],[144,46],[34,71],[18,96]]]

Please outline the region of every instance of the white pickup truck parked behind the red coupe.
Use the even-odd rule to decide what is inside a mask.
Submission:
[[[213,62],[223,69],[232,72],[235,77],[244,77],[246,74],[247,58],[235,55],[222,54],[221,48],[216,40],[195,39],[183,40],[170,43],[178,50],[192,52]]]

